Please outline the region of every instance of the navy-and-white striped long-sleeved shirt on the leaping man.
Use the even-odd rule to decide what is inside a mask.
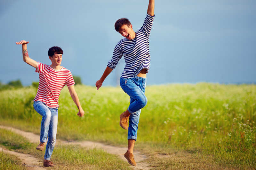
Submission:
[[[121,75],[123,78],[136,77],[143,68],[149,69],[149,35],[153,25],[154,16],[147,14],[143,26],[135,32],[134,39],[121,39],[113,52],[113,56],[108,61],[108,67],[115,69],[116,64],[124,55],[125,67]]]

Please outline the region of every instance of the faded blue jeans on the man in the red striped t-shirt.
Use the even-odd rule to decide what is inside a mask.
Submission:
[[[34,109],[42,116],[40,142],[46,142],[48,136],[44,159],[50,160],[56,142],[58,108],[49,108],[43,102],[34,101]]]

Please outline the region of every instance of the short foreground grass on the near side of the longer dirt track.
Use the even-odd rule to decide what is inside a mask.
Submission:
[[[0,145],[7,149],[13,149],[15,152],[33,155],[39,159],[44,160],[44,152],[37,151],[35,148],[37,144],[29,143],[28,139],[13,133],[12,131],[0,129]],[[45,149],[44,149],[45,151]],[[0,169],[27,169],[20,166],[20,161],[15,157],[0,152]],[[91,170],[108,170],[108,169],[122,169],[129,170],[129,164],[117,158],[116,155],[111,155],[101,149],[88,149],[78,145],[57,145],[54,147],[54,152],[51,159],[56,166],[52,169],[56,170],[77,170],[77,169],[91,169]]]

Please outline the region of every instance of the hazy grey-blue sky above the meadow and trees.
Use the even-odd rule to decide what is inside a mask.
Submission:
[[[95,85],[122,39],[115,21],[128,18],[137,31],[147,7],[148,0],[0,0],[0,81],[38,81],[15,44],[25,39],[29,56],[48,65],[48,49],[60,46],[62,66]],[[156,0],[147,84],[256,82],[255,9],[254,0]],[[115,86],[123,68],[121,60],[103,85]]]

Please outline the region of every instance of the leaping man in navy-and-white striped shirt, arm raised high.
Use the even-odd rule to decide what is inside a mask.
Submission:
[[[140,111],[148,101],[144,93],[146,74],[150,66],[148,39],[155,17],[154,8],[155,1],[149,0],[146,19],[137,32],[133,31],[132,24],[127,18],[121,18],[116,21],[116,31],[125,38],[117,43],[107,68],[100,80],[95,84],[98,90],[124,55],[125,68],[120,78],[120,86],[131,97],[131,102],[128,109],[120,115],[120,126],[126,130],[128,129],[128,150],[124,157],[133,166],[136,166],[133,158],[133,147],[137,138]]]

